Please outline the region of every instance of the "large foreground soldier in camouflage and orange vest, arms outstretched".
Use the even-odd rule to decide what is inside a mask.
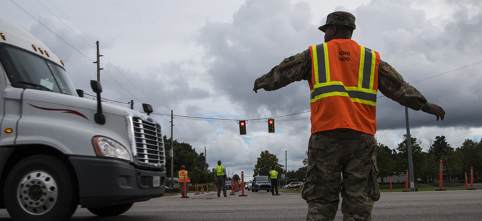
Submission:
[[[371,220],[373,202],[380,198],[376,177],[376,98],[384,96],[402,106],[445,118],[440,106],[427,99],[378,52],[351,40],[355,16],[328,14],[325,43],[281,61],[257,78],[253,91],[273,91],[306,80],[311,91],[311,137],[308,170],[302,196],[308,203],[306,220],[333,220],[338,210],[338,185],[343,220]]]

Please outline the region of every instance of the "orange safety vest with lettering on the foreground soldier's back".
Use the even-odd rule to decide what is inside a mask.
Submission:
[[[378,52],[333,39],[311,52],[311,133],[350,128],[376,133]]]

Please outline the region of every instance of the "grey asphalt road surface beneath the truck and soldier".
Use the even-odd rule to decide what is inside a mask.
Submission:
[[[217,197],[205,192],[188,199],[180,195],[137,202],[128,212],[117,217],[96,217],[79,208],[71,220],[83,221],[163,221],[163,220],[305,220],[307,206],[300,194],[281,192],[241,192]],[[372,212],[373,220],[482,220],[482,190],[433,192],[383,192]],[[11,220],[0,210],[0,220]],[[343,220],[341,205],[335,220]]]

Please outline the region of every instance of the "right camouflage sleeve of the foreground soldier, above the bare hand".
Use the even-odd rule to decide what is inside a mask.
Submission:
[[[403,81],[403,77],[385,61],[378,68],[378,90],[387,98],[415,111],[428,111],[431,108],[427,99],[413,86]]]

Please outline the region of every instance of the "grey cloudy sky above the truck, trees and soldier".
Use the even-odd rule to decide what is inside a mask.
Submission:
[[[190,143],[208,163],[251,178],[268,150],[288,170],[306,158],[308,83],[252,91],[283,58],[323,43],[326,15],[356,16],[353,40],[372,48],[446,111],[446,120],[409,111],[411,134],[427,150],[437,135],[459,147],[482,138],[480,0],[0,0],[0,14],[29,29],[66,63],[76,88],[91,92],[100,42],[102,96],[154,106],[164,134]],[[123,104],[124,103],[124,104]],[[378,93],[379,143],[396,148],[405,109]],[[191,118],[197,117],[197,118]],[[266,118],[276,119],[276,133]],[[248,120],[239,135],[236,120]],[[287,152],[285,152],[287,150]]]

